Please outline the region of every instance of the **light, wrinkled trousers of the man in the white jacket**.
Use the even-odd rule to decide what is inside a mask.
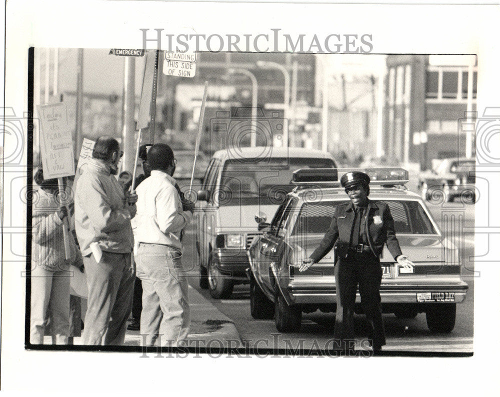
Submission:
[[[180,256],[180,251],[167,245],[139,245],[136,273],[142,281],[140,334],[146,346],[177,346],[187,339],[187,276]]]

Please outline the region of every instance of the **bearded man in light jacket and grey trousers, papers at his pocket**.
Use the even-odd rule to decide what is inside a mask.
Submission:
[[[134,266],[130,218],[137,195],[123,191],[116,139],[100,136],[76,182],[75,229],[88,287],[84,344],[120,345],[132,303]]]

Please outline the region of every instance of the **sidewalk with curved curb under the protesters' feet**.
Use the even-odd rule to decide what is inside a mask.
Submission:
[[[189,285],[189,307],[191,326],[188,345],[191,347],[214,348],[242,347],[241,339],[232,320],[222,314],[213,304]],[[124,345],[139,346],[139,331],[126,331]],[[74,338],[74,344],[82,344],[81,337]]]

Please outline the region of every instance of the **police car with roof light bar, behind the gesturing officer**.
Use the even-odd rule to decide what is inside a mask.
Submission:
[[[247,251],[254,318],[274,316],[278,331],[290,332],[300,327],[302,312],[335,311],[334,249],[303,272],[298,266],[319,245],[335,206],[348,201],[339,178],[352,170],[297,170],[292,180],[296,187],[272,221],[258,224],[264,233]],[[401,250],[413,262],[412,266],[399,265],[384,247],[380,258],[382,312],[398,318],[425,312],[431,331],[450,332],[456,304],[465,300],[468,288],[460,278],[457,248],[443,236],[423,199],[404,186],[406,170],[357,170],[370,176],[370,200],[388,204]],[[356,312],[362,312],[359,293]]]

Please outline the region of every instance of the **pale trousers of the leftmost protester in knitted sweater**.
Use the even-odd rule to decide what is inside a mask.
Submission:
[[[53,344],[66,344],[69,335],[69,271],[31,270],[30,342],[43,344],[47,310]]]

